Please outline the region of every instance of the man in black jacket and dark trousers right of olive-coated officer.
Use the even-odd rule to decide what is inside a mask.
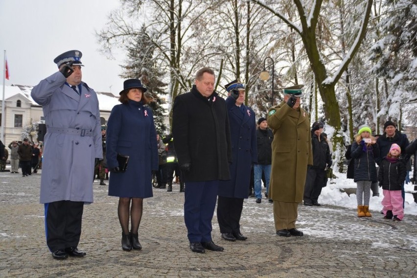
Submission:
[[[316,121],[311,127],[313,165],[307,170],[304,187],[304,205],[320,206],[318,199],[326,176],[325,170],[332,165],[330,148],[323,136],[323,122]]]

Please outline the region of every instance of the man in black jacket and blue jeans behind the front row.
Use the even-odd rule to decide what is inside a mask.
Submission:
[[[269,190],[269,178],[271,176],[271,163],[272,163],[272,141],[274,140],[274,134],[272,130],[268,128],[268,122],[266,118],[260,117],[258,119],[259,128],[256,130],[256,142],[258,151],[258,162],[254,164],[255,174],[255,197],[256,203],[262,201],[262,172],[265,175],[266,192]],[[267,193],[266,193],[266,196]]]

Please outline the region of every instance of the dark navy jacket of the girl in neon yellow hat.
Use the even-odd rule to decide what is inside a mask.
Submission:
[[[351,156],[355,159],[353,168],[353,181],[371,181],[376,182],[376,166],[375,159],[379,157],[378,143],[372,145],[372,151],[362,150],[362,145],[353,141],[351,147]]]

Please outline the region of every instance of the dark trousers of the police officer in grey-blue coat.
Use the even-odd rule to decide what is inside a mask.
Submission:
[[[45,204],[46,245],[51,252],[77,247],[81,236],[84,202]]]

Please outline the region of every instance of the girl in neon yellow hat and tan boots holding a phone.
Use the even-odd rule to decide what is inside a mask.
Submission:
[[[372,217],[369,200],[371,184],[377,181],[375,158],[379,157],[379,147],[371,133],[369,126],[360,126],[351,147],[351,157],[355,160],[353,180],[357,185],[358,217]]]

